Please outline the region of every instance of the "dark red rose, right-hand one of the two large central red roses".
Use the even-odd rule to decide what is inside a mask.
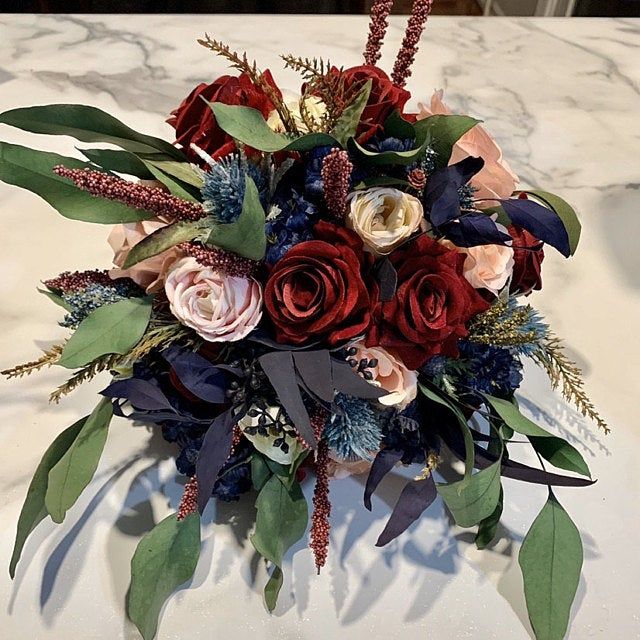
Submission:
[[[490,306],[462,275],[465,255],[422,235],[390,260],[398,288],[391,301],[376,305],[367,345],[395,351],[410,369],[435,355],[456,357],[466,324]]]

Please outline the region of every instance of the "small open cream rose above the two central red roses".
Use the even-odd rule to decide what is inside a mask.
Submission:
[[[347,227],[377,256],[391,253],[422,221],[420,201],[398,189],[374,187],[349,196]]]

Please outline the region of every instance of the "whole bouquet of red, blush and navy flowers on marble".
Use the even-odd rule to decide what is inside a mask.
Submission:
[[[578,450],[520,413],[514,393],[531,359],[608,431],[561,341],[525,301],[541,288],[544,252],[571,256],[580,224],[558,196],[517,189],[491,136],[453,114],[442,92],[407,110],[431,0],[415,1],[389,77],[375,65],[391,4],[373,3],[362,66],[282,56],[302,76],[291,98],[246,55],[200,40],[238,73],[200,84],[171,114],[175,144],[84,105],[0,115],[26,131],[111,145],[77,159],[3,142],[0,178],[67,218],[113,225],[115,264],[45,280],[41,292],[71,333],[3,372],[72,371],[54,402],[112,376],[36,469],[12,577],[31,531],[47,517],[62,522],[91,481],[116,415],[156,425],[185,477],[177,513],[132,559],[127,611],[147,640],[164,601],[193,575],[212,497],[255,497],[251,542],[271,567],[273,610],[283,555],[308,526],[318,571],[327,560],[340,492],[332,478],[367,474],[371,509],[396,465],[414,465],[415,478],[378,546],[440,496],[487,547],[501,478],[549,487],[519,561],[536,637],[564,636],[582,545],[552,487],[593,481]],[[540,468],[512,457],[527,444]],[[313,478],[309,517],[301,483]]]

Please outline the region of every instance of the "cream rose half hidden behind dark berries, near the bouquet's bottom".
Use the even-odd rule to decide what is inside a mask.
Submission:
[[[295,435],[289,435],[280,429],[274,428],[274,425],[281,424],[283,415],[282,408],[275,405],[269,405],[264,409],[252,405],[247,414],[238,421],[238,426],[260,453],[279,464],[291,464],[300,455],[304,447]],[[266,418],[266,424],[262,429],[263,433],[258,430],[261,416]],[[282,426],[288,432],[294,431],[288,422],[285,422]],[[265,430],[266,433],[264,433]],[[286,445],[284,450],[281,446],[274,446],[278,438],[284,438],[284,444]]]

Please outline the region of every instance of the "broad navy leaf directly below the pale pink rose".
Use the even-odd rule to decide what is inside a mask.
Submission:
[[[206,358],[188,349],[177,348],[167,349],[162,355],[194,396],[212,404],[225,402],[224,374]]]

